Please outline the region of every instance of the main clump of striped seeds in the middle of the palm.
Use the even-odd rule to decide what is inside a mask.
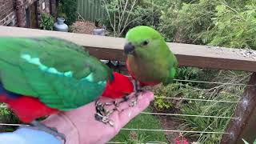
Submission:
[[[95,107],[96,107],[96,114],[95,119],[99,122],[103,122],[105,124],[109,124],[110,126],[114,126],[114,121],[110,119],[110,114],[113,114],[114,110],[106,110],[105,106],[108,106],[107,103],[102,103],[102,102],[95,102]]]

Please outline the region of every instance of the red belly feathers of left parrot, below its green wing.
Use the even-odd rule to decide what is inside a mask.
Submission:
[[[27,96],[21,96],[19,98],[10,99],[6,95],[0,95],[0,102],[8,104],[14,114],[22,122],[30,123],[36,118],[42,118],[50,114],[56,114],[59,110],[52,109],[38,100],[38,98],[32,98]]]

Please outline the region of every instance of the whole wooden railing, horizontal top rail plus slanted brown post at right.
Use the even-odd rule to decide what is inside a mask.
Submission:
[[[90,54],[101,59],[125,61],[122,47],[124,38],[111,38],[88,34],[74,34],[47,30],[33,30],[18,27],[0,26],[0,37],[37,37],[52,36],[64,38],[78,45],[85,46]],[[256,58],[247,58],[240,50],[214,48],[209,46],[168,43],[178,58],[179,66],[195,66],[218,70],[243,70],[256,72]],[[254,51],[255,52],[255,51]],[[255,52],[256,54],[256,52]],[[250,86],[246,87],[242,102],[238,104],[233,118],[222,136],[222,143],[243,143],[256,139],[256,73],[252,74]],[[253,86],[252,86],[253,85]]]

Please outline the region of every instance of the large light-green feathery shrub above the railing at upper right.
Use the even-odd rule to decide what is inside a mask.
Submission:
[[[158,30],[170,42],[256,49],[254,0],[170,1]]]

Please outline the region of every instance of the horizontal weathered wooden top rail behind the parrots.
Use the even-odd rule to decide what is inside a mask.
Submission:
[[[53,36],[64,38],[85,46],[90,54],[102,59],[125,61],[123,54],[124,38],[102,37],[89,34],[63,33],[47,30],[34,30],[0,26],[0,36],[35,37]],[[220,70],[256,71],[256,59],[246,58],[240,50],[209,48],[209,46],[168,43],[178,58],[179,66],[195,66]],[[234,50],[234,51],[233,51]]]

